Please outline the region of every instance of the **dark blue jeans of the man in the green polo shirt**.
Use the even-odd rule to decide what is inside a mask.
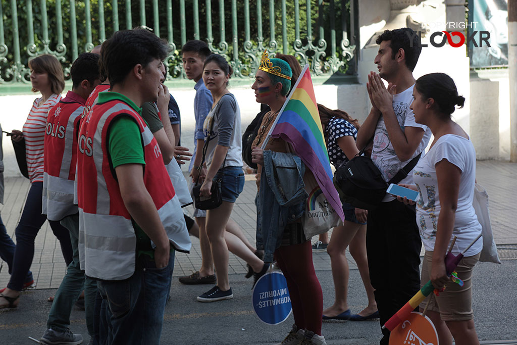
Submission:
[[[142,254],[136,259],[135,272],[130,278],[97,282],[103,299],[101,344],[160,343],[173,268],[174,251],[171,251],[169,265],[161,269]]]

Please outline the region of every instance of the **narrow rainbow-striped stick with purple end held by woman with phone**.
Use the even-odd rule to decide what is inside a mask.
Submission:
[[[447,275],[450,276],[452,274],[452,272],[454,271],[454,268],[456,268],[456,266],[458,266],[458,264],[460,263],[461,259],[463,258],[465,252],[470,248],[472,247],[477,241],[478,239],[481,237],[481,234],[479,234],[478,237],[476,237],[476,239],[474,240],[474,242],[472,242],[467,248],[465,248],[465,250],[463,250],[461,253],[459,253],[457,256],[454,256],[454,254],[452,254],[449,250],[449,252],[447,253],[447,255],[445,256],[445,269],[447,271]],[[452,245],[454,244],[454,242],[452,243]],[[451,249],[452,249],[452,245],[451,245]],[[418,307],[418,305],[420,303],[422,303],[422,301],[425,299],[425,297],[429,296],[429,294],[434,290],[434,287],[433,287],[433,284],[431,283],[431,280],[429,280],[421,289],[420,291],[418,291],[411,299],[409,299],[409,302],[407,302],[402,308],[399,309],[399,311],[397,311],[388,321],[386,321],[386,323],[384,324],[384,326],[382,327],[383,329],[384,328],[388,328],[389,331],[393,331],[393,329],[395,329],[395,327],[397,327],[402,321],[404,321],[405,319],[407,319],[407,317],[409,316],[409,314],[415,310],[416,307]]]

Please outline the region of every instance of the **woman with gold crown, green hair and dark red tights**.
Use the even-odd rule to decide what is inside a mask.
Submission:
[[[264,250],[264,262],[277,261],[287,280],[295,324],[280,344],[323,345],[322,289],[312,263],[310,238],[305,237],[301,224],[307,199],[303,188],[306,167],[280,138],[269,139],[264,150],[261,148],[286,100],[291,77],[285,61],[269,59],[264,51],[251,87],[256,101],[271,108],[264,115],[251,153],[257,164],[257,249]]]

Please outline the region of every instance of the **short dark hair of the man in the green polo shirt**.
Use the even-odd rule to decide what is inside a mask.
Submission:
[[[165,59],[169,51],[166,41],[145,29],[117,31],[102,43],[103,72],[113,86],[122,82],[135,65],[147,67],[153,59]]]

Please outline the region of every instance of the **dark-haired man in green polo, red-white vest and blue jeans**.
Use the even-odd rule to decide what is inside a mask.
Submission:
[[[169,47],[145,29],[116,32],[101,49],[111,84],[83,118],[78,142],[81,266],[98,279],[107,314],[101,342],[160,342],[174,251],[190,238],[160,148],[141,117],[156,101]]]

